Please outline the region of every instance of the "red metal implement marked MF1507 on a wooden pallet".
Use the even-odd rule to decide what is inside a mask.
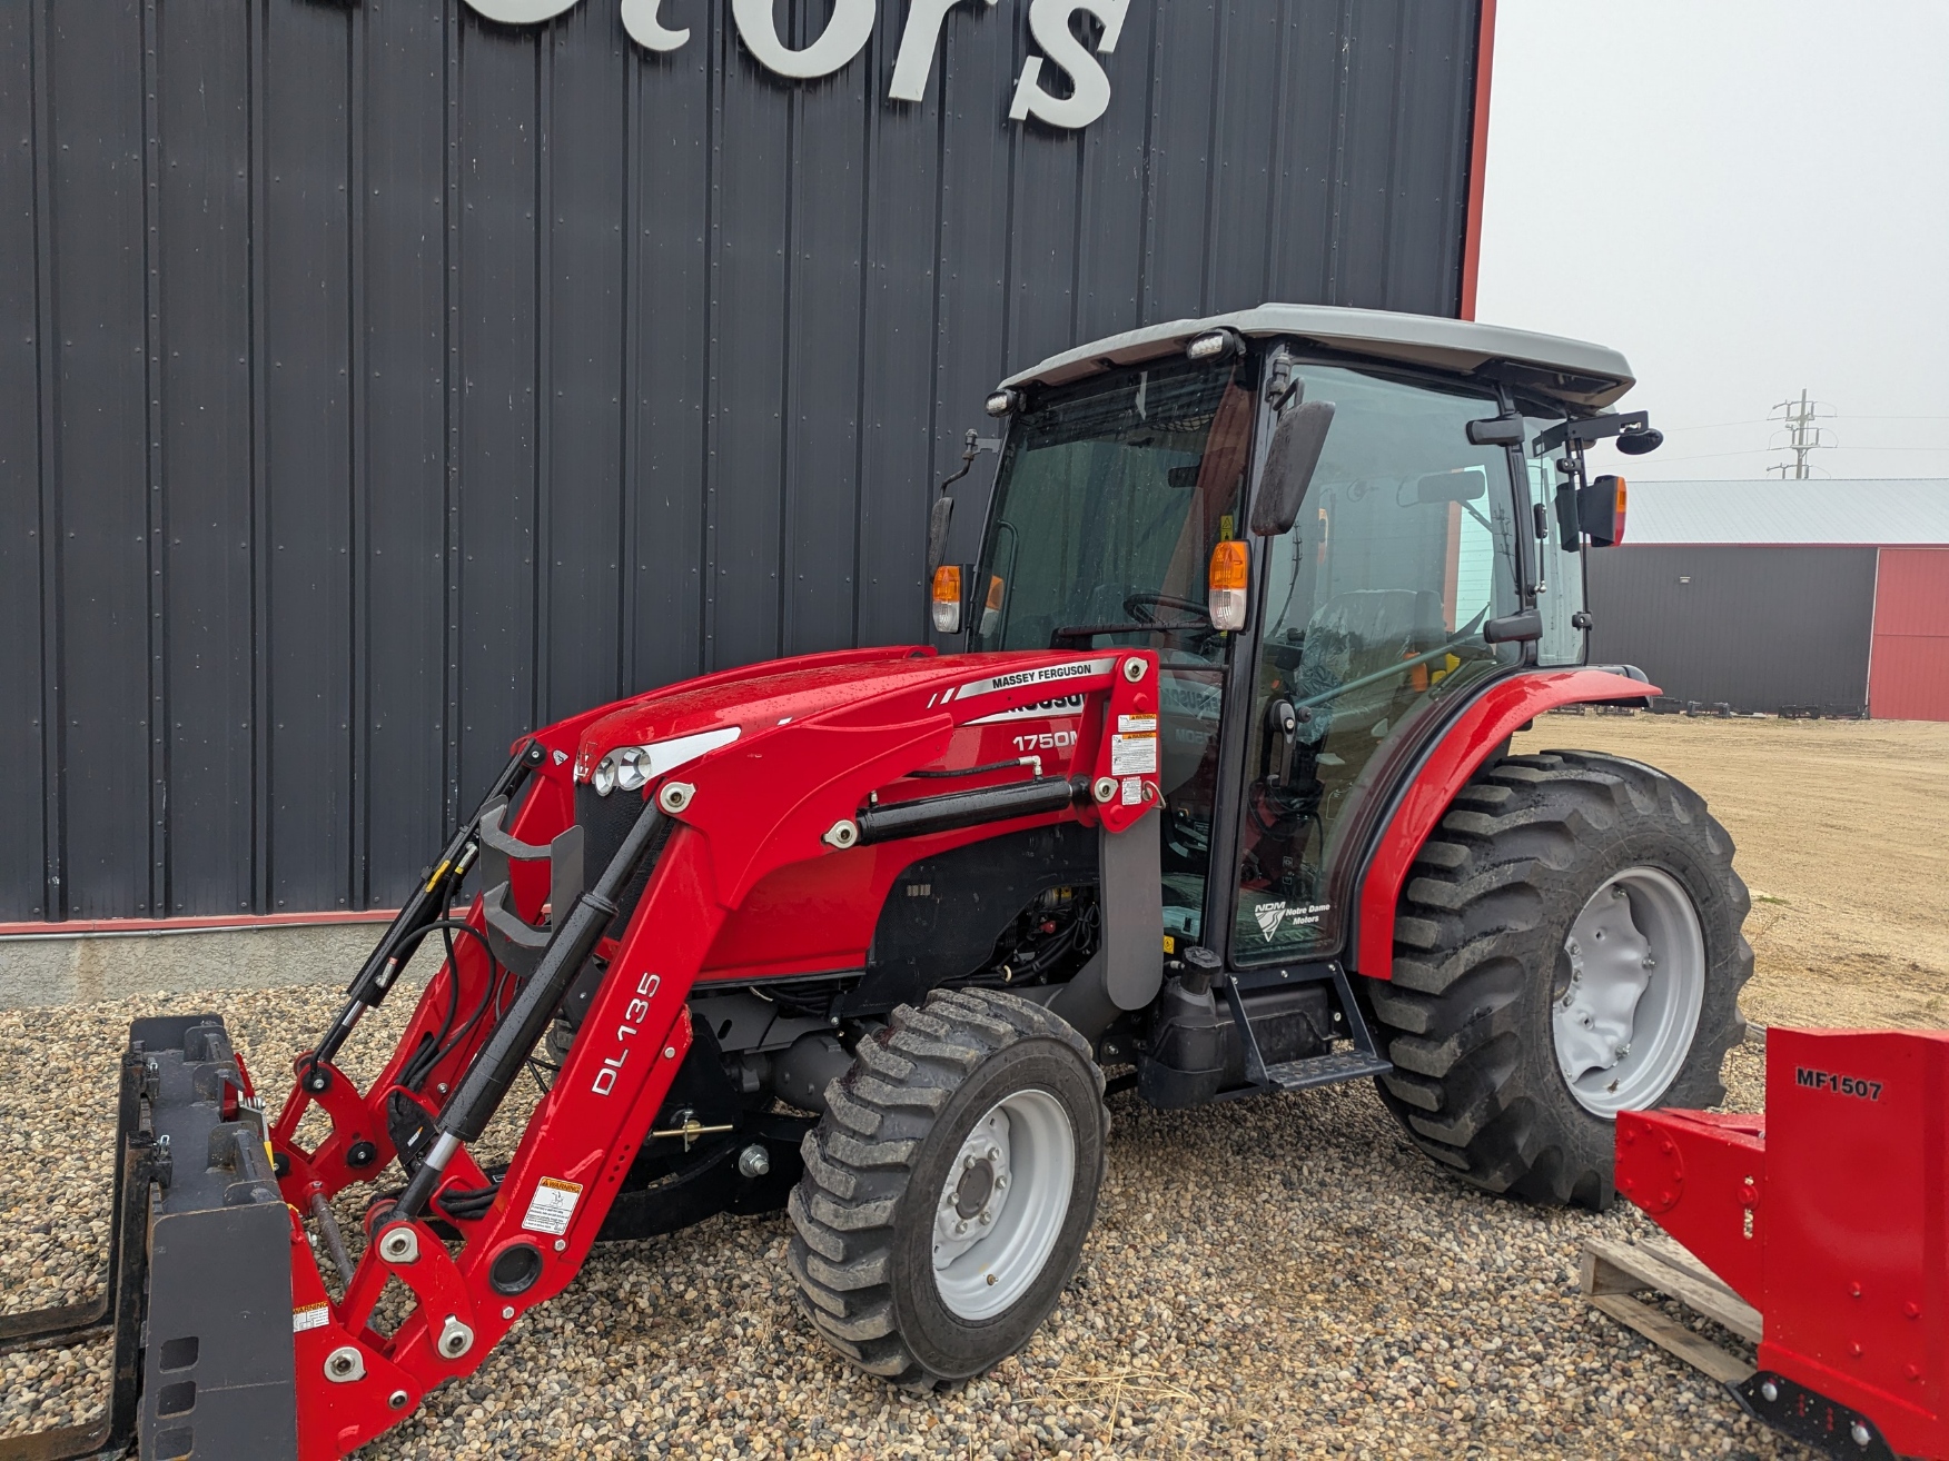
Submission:
[[[1618,1192],[1764,1317],[1735,1387],[1857,1457],[1949,1457],[1949,1034],[1768,1034],[1766,1114],[1624,1112]]]

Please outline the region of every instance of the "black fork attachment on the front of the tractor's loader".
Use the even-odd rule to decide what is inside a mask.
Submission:
[[[129,1027],[101,1299],[0,1321],[0,1348],[111,1336],[107,1418],[0,1440],[0,1461],[298,1453],[292,1218],[214,1015]]]

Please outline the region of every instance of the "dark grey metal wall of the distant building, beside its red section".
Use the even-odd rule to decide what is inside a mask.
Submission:
[[[1586,581],[1594,664],[1740,711],[1867,703],[1873,547],[1594,549]]]

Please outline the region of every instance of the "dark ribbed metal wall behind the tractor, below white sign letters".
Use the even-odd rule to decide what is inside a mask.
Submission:
[[[918,637],[1006,368],[1456,310],[1473,0],[1140,4],[1080,134],[1019,0],[885,101],[902,18],[791,84],[723,4],[0,8],[0,918],[388,904],[520,729]]]

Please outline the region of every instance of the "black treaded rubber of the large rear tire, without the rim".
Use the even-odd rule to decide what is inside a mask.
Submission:
[[[1616,1128],[1563,1081],[1549,1009],[1571,923],[1633,865],[1684,886],[1705,939],[1698,1029],[1659,1105],[1719,1105],[1725,1052],[1746,1030],[1750,898],[1733,838],[1696,791],[1618,756],[1509,756],[1456,793],[1417,853],[1395,912],[1394,980],[1366,986],[1395,1066],[1378,1085],[1415,1145],[1464,1180],[1610,1204]]]

